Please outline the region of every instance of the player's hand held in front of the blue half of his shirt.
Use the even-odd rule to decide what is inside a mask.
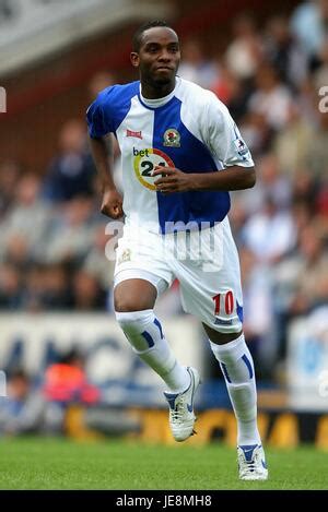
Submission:
[[[154,181],[156,190],[164,194],[173,192],[187,192],[192,189],[192,175],[183,172],[175,167],[156,165],[152,176],[161,176]]]

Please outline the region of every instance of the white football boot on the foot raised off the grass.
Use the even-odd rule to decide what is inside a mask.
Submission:
[[[194,432],[196,416],[194,414],[194,396],[200,383],[199,373],[195,368],[187,367],[190,385],[183,393],[164,393],[169,405],[169,426],[176,441],[185,441]]]

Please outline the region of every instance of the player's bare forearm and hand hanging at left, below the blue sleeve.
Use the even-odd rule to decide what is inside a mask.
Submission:
[[[92,156],[97,168],[103,192],[101,211],[112,218],[122,216],[122,198],[113,179],[113,147],[110,138],[89,135]]]

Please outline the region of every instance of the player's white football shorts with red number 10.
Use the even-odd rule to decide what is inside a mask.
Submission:
[[[157,296],[177,278],[187,313],[222,333],[242,330],[239,260],[227,217],[200,231],[166,235],[126,225],[114,275],[114,286],[126,279],[147,279]]]

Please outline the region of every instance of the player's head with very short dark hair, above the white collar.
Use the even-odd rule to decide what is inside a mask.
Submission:
[[[167,27],[153,27],[143,33],[139,52],[131,53],[139,68],[141,82],[164,85],[174,82],[180,61],[176,33]]]

